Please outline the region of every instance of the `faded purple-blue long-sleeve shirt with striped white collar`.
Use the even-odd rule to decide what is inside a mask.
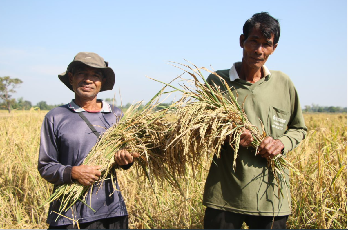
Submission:
[[[41,128],[38,161],[39,173],[45,180],[55,185],[72,183],[72,166],[80,165],[97,141],[96,135],[78,113],[84,113],[100,133],[120,119],[122,112],[119,108],[112,108],[104,101],[102,103],[102,110],[97,113],[86,112],[72,100],[69,104],[56,107],[46,114]],[[116,177],[114,180],[117,184]],[[119,190],[118,184],[116,187]],[[110,179],[105,180],[96,193],[97,190],[97,186],[93,187],[92,192],[88,190],[85,198],[88,201],[87,204],[96,212],[82,202],[77,202],[72,209],[63,212],[62,215],[79,220],[79,223],[128,215],[121,192],[113,192]],[[112,195],[109,196],[110,194]],[[50,204],[47,223],[52,226],[72,224],[68,218],[58,217],[56,213],[52,212],[58,212],[59,207],[59,201]],[[57,221],[55,221],[56,219]]]

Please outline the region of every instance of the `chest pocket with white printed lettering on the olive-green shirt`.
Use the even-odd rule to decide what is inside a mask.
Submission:
[[[270,106],[267,120],[268,135],[278,138],[286,131],[290,112]]]

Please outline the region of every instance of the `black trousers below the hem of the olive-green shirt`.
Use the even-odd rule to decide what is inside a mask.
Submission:
[[[288,215],[254,216],[207,207],[204,216],[204,229],[240,229],[243,222],[248,225],[249,229],[286,229],[287,218]]]

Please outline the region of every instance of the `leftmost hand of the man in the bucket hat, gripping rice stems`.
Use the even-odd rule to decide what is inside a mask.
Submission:
[[[71,168],[71,179],[76,179],[80,184],[91,185],[97,181],[102,173],[98,171],[102,166],[88,166],[88,165],[79,165],[72,166]]]

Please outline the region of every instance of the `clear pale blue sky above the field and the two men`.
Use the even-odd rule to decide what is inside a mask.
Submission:
[[[67,103],[58,79],[80,51],[96,52],[116,74],[99,98],[148,101],[182,71],[167,61],[228,69],[242,60],[239,35],[254,13],[279,19],[266,63],[290,76],[302,107],[347,106],[347,1],[1,1],[0,76],[23,84],[14,98]],[[208,74],[206,74],[207,76]],[[187,76],[188,77],[188,76]],[[172,95],[168,100],[171,100]]]

